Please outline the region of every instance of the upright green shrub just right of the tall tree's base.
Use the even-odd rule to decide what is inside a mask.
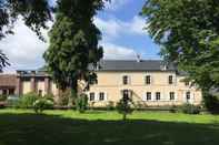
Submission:
[[[77,97],[76,107],[80,113],[83,113],[88,108],[88,96],[86,94],[81,94]]]

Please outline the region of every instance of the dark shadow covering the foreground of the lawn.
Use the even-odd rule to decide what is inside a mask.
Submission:
[[[219,145],[219,124],[1,114],[0,145]]]

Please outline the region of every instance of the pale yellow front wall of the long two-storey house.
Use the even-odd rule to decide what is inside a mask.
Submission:
[[[91,85],[89,92],[94,92],[97,97],[100,92],[107,94],[107,101],[94,101],[97,105],[103,105],[109,101],[118,102],[122,97],[122,90],[132,90],[132,100],[143,105],[180,105],[186,102],[185,94],[187,91],[191,92],[192,104],[201,103],[201,92],[195,87],[186,86],[181,80],[182,76],[176,75],[175,72],[98,72],[98,84]],[[122,84],[122,76],[128,75],[130,84]],[[145,76],[151,75],[151,84],[145,84]],[[168,83],[169,75],[173,76],[173,84]],[[89,92],[87,92],[89,94]],[[161,93],[160,101],[143,101],[146,92],[151,92],[155,99],[155,93]],[[169,92],[175,92],[176,100],[169,100]]]

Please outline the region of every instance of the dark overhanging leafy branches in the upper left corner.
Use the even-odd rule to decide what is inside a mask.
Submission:
[[[51,20],[51,11],[49,0],[0,0],[0,40],[13,33],[13,24],[19,15],[43,40],[40,29],[47,29],[46,22]],[[0,52],[0,71],[7,64],[7,56]]]

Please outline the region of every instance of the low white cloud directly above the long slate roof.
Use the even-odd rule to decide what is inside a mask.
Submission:
[[[137,52],[131,48],[126,48],[112,43],[102,43],[103,46],[103,59],[107,60],[130,60],[135,59]]]

